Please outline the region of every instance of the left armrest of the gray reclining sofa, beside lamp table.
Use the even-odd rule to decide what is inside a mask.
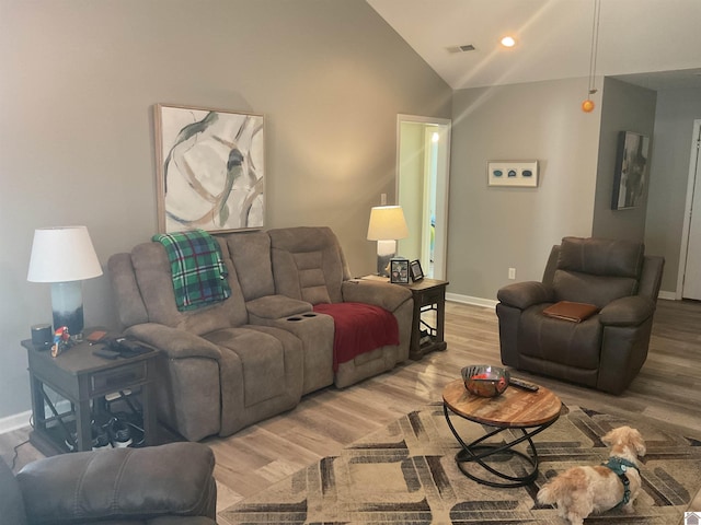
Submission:
[[[221,358],[219,347],[206,339],[158,323],[134,325],[127,328],[125,334],[159,349],[170,359]]]

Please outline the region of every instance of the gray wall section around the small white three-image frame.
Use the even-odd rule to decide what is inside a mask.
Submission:
[[[579,108],[587,79],[460,90],[453,95],[450,292],[495,300],[540,280],[553,244],[591,234],[600,113]],[[595,102],[599,104],[598,95]],[[539,161],[537,188],[489,187],[487,161]]]

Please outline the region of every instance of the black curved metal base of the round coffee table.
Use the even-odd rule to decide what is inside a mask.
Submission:
[[[486,433],[482,438],[479,438],[471,443],[466,443],[464,440],[460,438],[460,434],[453,427],[452,421],[450,421],[451,410],[445,404],[443,410],[452,435],[455,435],[456,440],[458,440],[458,443],[460,443],[460,446],[462,446],[462,450],[456,454],[456,463],[458,464],[458,468],[462,474],[464,474],[470,479],[478,481],[479,483],[506,489],[524,487],[526,485],[532,483],[536,480],[536,478],[538,477],[539,462],[538,451],[536,450],[536,444],[533,443],[532,438],[554,423],[556,418],[552,421],[537,427],[516,427],[517,430],[520,430],[521,435],[513,441],[504,440],[503,443],[484,443],[490,438],[499,434],[505,430],[514,429],[514,427],[498,427],[495,428],[495,430]],[[527,451],[529,451],[529,454],[525,454],[520,451],[514,450],[514,446],[525,441],[528,442]],[[497,459],[498,455],[507,455],[509,456],[509,459],[514,458],[514,456],[522,458],[528,465],[528,471],[522,476],[512,476],[496,469],[495,466],[489,465],[486,463],[490,459],[492,460],[491,463],[494,463],[494,459]],[[480,477],[468,469],[468,466],[470,465],[479,465],[479,467],[482,467],[483,470],[490,472],[492,475],[492,478],[503,479],[504,481],[495,481],[493,479]],[[473,468],[473,470],[475,469]],[[476,470],[479,470],[479,468],[476,468]]]

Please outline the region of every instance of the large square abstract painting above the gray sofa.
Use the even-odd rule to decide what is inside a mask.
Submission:
[[[263,115],[164,104],[154,113],[159,232],[262,229]]]

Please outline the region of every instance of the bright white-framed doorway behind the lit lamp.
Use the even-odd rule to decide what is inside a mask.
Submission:
[[[446,118],[397,118],[397,195],[409,226],[398,254],[418,259],[434,279],[446,278],[450,125]]]

